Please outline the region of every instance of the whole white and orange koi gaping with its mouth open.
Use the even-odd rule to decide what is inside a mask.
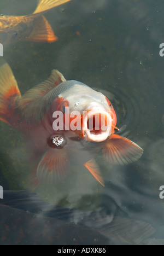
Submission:
[[[102,149],[107,161],[117,165],[130,164],[143,154],[136,143],[114,134],[116,114],[106,96],[86,84],[66,81],[57,70],[21,96],[9,65],[2,65],[0,119],[24,133],[32,154],[38,159],[37,180],[48,185],[65,177],[71,164],[77,161],[104,186],[95,160],[99,150]],[[91,120],[93,127],[89,126]],[[60,121],[63,129],[55,129]]]

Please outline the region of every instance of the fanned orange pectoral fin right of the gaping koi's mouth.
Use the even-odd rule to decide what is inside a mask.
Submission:
[[[103,147],[104,158],[113,165],[127,165],[137,161],[143,149],[136,143],[119,135],[112,135]]]

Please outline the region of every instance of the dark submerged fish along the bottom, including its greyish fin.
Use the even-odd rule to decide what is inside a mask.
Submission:
[[[26,191],[4,191],[0,225],[0,245],[138,245],[155,232],[139,220],[54,206]]]

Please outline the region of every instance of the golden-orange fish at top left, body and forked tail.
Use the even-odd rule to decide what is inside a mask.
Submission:
[[[0,16],[0,42],[55,42],[57,37],[42,14],[68,1],[71,0],[39,0],[38,7],[32,15]]]

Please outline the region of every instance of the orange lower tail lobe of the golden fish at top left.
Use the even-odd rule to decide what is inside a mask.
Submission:
[[[24,39],[27,42],[47,42],[53,43],[58,38],[55,36],[54,31],[51,28],[49,22],[44,16],[38,16],[34,24],[32,33],[29,37]]]

